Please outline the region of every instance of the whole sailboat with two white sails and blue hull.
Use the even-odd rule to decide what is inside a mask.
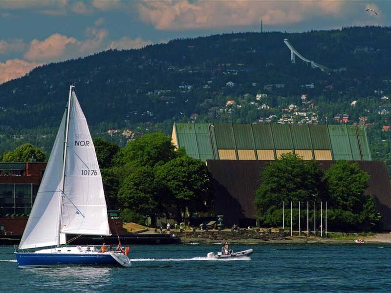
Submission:
[[[73,85],[36,200],[15,251],[18,267],[131,265],[122,249],[69,246],[66,234],[111,235],[95,147]]]

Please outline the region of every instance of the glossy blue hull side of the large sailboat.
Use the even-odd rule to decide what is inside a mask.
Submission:
[[[16,253],[18,267],[120,266],[109,254]]]

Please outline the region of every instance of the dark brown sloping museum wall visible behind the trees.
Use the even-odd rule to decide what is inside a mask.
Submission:
[[[255,190],[261,184],[260,172],[270,161],[207,160],[215,188],[215,214],[224,215],[232,226],[239,219],[255,218]],[[335,161],[317,161],[324,170]],[[374,197],[383,217],[383,229],[391,230],[391,186],[384,162],[351,161],[370,175],[366,193]]]

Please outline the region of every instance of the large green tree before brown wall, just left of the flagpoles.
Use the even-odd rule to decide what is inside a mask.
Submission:
[[[324,198],[323,171],[316,161],[304,161],[293,153],[282,154],[261,172],[261,185],[256,190],[255,205],[262,223],[274,225],[274,216],[282,202],[298,203]],[[281,221],[281,218],[280,218]]]

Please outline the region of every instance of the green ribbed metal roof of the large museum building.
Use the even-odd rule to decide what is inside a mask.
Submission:
[[[371,160],[361,125],[174,124],[174,130],[178,147],[202,161],[219,159],[219,149],[330,150],[333,160]]]

